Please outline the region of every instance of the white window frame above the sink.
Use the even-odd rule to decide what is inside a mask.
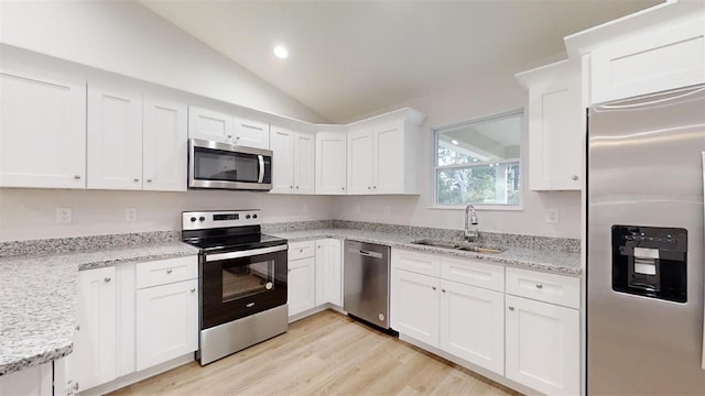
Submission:
[[[459,125],[464,125],[464,124],[468,124],[468,123],[473,123],[473,122],[481,122],[481,121],[487,121],[487,120],[492,120],[492,119],[501,119],[501,118],[506,118],[506,117],[510,117],[510,116],[516,116],[516,114],[520,114],[521,116],[521,130],[519,131],[519,157],[517,158],[510,158],[510,160],[500,160],[500,161],[481,161],[481,162],[477,162],[477,163],[473,163],[471,165],[447,165],[447,166],[438,166],[438,133],[448,130],[448,129],[453,129]],[[463,120],[463,121],[458,121],[458,122],[454,122],[452,124],[445,124],[445,125],[440,125],[440,127],[434,127],[431,130],[433,131],[433,155],[431,156],[431,161],[433,162],[432,164],[432,176],[431,176],[431,183],[432,183],[432,187],[431,189],[433,190],[433,206],[430,207],[429,209],[440,209],[440,210],[457,210],[457,209],[465,209],[465,207],[468,204],[473,204],[473,202],[466,202],[466,204],[441,204],[438,202],[438,169],[466,169],[466,168],[471,168],[471,167],[479,167],[479,166],[489,166],[490,164],[508,164],[508,163],[518,163],[519,164],[519,175],[520,175],[520,186],[519,186],[519,202],[517,205],[506,205],[506,204],[473,204],[473,206],[475,207],[476,210],[508,210],[508,211],[517,211],[517,210],[523,210],[523,202],[524,202],[524,194],[525,194],[525,179],[527,179],[527,175],[524,175],[524,158],[523,158],[523,153],[524,153],[524,144],[525,144],[525,140],[524,140],[524,131],[527,129],[527,112],[524,110],[524,108],[518,108],[514,110],[510,110],[510,111],[505,111],[505,112],[500,112],[500,113],[494,113],[494,114],[489,114],[489,116],[482,116],[482,117],[477,117],[477,118],[473,118],[473,119],[467,119],[467,120]]]

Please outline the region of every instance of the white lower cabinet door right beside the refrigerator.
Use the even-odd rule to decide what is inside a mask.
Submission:
[[[510,295],[506,305],[507,378],[547,395],[578,395],[579,311]]]

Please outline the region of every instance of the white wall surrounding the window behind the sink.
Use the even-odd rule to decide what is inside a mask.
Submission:
[[[546,59],[549,63],[553,59]],[[525,65],[529,69],[536,65]],[[467,85],[411,99],[395,107],[412,107],[427,116],[422,125],[419,153],[420,190],[415,197],[343,197],[335,201],[337,218],[463,229],[463,210],[430,209],[433,206],[433,128],[452,124],[525,106],[527,92],[514,78],[520,69],[499,70],[494,76],[480,76]],[[390,110],[387,109],[387,110]],[[386,109],[380,109],[386,110]],[[522,136],[523,177],[528,175],[528,142]],[[525,180],[525,178],[524,178]],[[581,238],[579,191],[533,193],[523,183],[523,210],[480,210],[480,231]],[[386,209],[389,208],[389,211]],[[359,212],[358,212],[359,209]],[[546,223],[545,210],[557,209],[560,222]]]

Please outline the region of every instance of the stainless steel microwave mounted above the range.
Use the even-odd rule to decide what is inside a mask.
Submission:
[[[272,151],[188,140],[188,188],[272,189]]]

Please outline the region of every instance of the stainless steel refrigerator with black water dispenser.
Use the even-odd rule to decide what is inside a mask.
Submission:
[[[705,86],[588,116],[587,394],[705,395]]]

